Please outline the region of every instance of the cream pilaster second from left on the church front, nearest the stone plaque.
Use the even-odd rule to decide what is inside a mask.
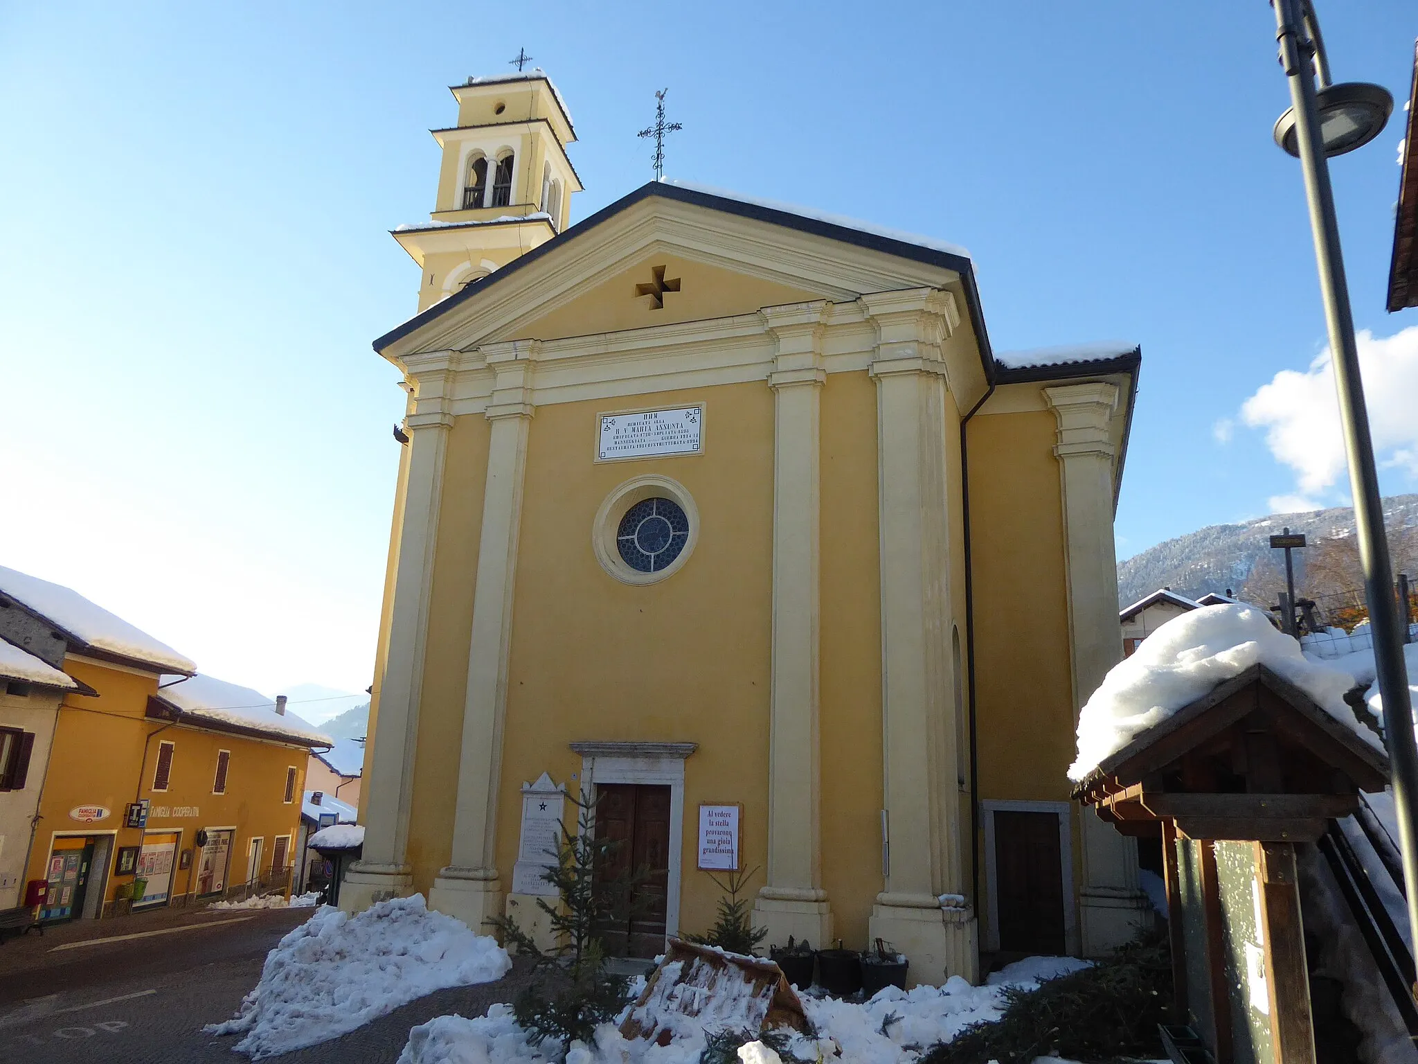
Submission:
[[[496,865],[498,790],[522,489],[535,410],[532,376],[536,348],[535,340],[510,340],[481,349],[495,373],[486,409],[492,431],[468,644],[452,861],[440,871],[430,891],[435,909],[457,916],[471,928],[481,928],[485,919],[502,915],[502,884]]]

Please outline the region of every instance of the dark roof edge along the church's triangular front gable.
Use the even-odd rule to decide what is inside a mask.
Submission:
[[[428,322],[434,321],[442,314],[447,314],[454,306],[461,304],[464,299],[471,299],[475,294],[491,288],[498,284],[502,278],[515,274],[518,270],[537,261],[542,255],[549,254],[554,248],[560,248],[563,244],[590,233],[593,228],[600,226],[603,221],[608,221],[614,216],[624,210],[635,206],[641,200],[649,199],[651,196],[664,196],[668,200],[678,200],[681,203],[689,203],[696,207],[706,207],[709,210],[723,211],[725,214],[736,214],[744,218],[753,218],[757,221],[766,221],[773,226],[783,226],[784,228],[794,228],[801,233],[811,233],[813,235],[825,237],[828,240],[837,240],[844,244],[854,244],[856,247],[869,248],[872,251],[881,251],[882,254],[895,255],[898,258],[908,258],[916,262],[927,262],[930,265],[937,265],[944,270],[951,270],[960,274],[961,284],[966,289],[966,309],[970,314],[970,323],[976,332],[976,342],[980,348],[980,360],[983,363],[986,380],[993,383],[995,379],[994,366],[994,352],[990,348],[990,335],[984,325],[984,312],[980,308],[980,289],[976,287],[974,278],[974,264],[963,255],[956,255],[949,251],[939,251],[936,248],[922,247],[919,244],[910,244],[903,240],[895,240],[892,237],[883,237],[876,233],[866,233],[864,230],[851,228],[848,226],[838,226],[831,221],[822,221],[820,218],[810,218],[803,214],[793,214],[791,211],[776,210],[773,207],[763,207],[757,203],[746,203],[744,200],[735,200],[726,196],[713,196],[710,193],[699,192],[696,189],[685,189],[679,184],[668,184],[665,182],[648,182],[635,192],[623,196],[614,203],[601,207],[598,211],[590,217],[581,218],[579,223],[570,228],[552,237],[552,240],[540,244],[523,255],[513,258],[501,270],[488,274],[486,277],[467,285],[462,291],[451,295],[450,298],[434,304],[432,306],[415,314],[413,318],[406,321],[403,325],[390,329],[383,336],[374,340],[374,350],[383,353],[386,348],[401,340],[408,333],[421,329]],[[407,231],[407,230],[406,230]],[[1098,373],[1099,370],[1090,370]]]

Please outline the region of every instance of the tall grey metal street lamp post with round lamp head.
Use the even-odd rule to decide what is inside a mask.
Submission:
[[[1329,323],[1334,389],[1339,392],[1340,424],[1349,455],[1349,480],[1354,494],[1354,526],[1364,566],[1364,594],[1374,633],[1374,664],[1378,691],[1384,698],[1384,739],[1394,773],[1394,807],[1398,813],[1398,841],[1402,848],[1404,880],[1408,884],[1408,924],[1418,928],[1418,743],[1414,742],[1412,706],[1408,698],[1408,670],[1404,665],[1402,634],[1394,602],[1392,563],[1384,533],[1384,512],[1378,497],[1374,445],[1368,431],[1368,410],[1358,373],[1354,319],[1344,281],[1344,258],[1339,245],[1334,193],[1330,189],[1329,155],[1353,150],[1373,140],[1392,111],[1392,98],[1377,85],[1330,85],[1319,24],[1309,0],[1272,0],[1280,64],[1290,82],[1290,111],[1276,123],[1282,148],[1297,155],[1305,172],[1305,193],[1314,234],[1324,318]],[[1316,99],[1312,57],[1324,99]],[[1377,92],[1375,92],[1377,91]],[[1387,108],[1384,99],[1387,98]],[[1326,105],[1322,119],[1320,104]],[[1293,133],[1293,149],[1286,140]],[[1405,633],[1404,633],[1405,634]],[[1414,987],[1409,987],[1414,992]]]

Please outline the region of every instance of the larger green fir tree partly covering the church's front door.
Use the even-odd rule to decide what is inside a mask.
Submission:
[[[644,908],[645,899],[637,897],[635,888],[649,875],[648,870],[625,870],[607,878],[610,857],[621,843],[596,837],[596,802],[587,792],[570,800],[579,810],[577,831],[573,836],[562,824],[556,864],[542,874],[556,887],[560,904],[536,899],[556,945],[542,949],[510,916],[488,921],[502,932],[503,942],[536,958],[535,969],[540,969],[513,1002],[518,1023],[533,1044],[554,1038],[563,1050],[577,1038],[590,1043],[596,1029],[614,1020],[625,1004],[627,979],[605,970],[601,929]]]

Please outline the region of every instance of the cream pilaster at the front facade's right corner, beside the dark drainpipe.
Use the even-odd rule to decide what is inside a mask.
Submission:
[[[882,617],[883,890],[869,938],[910,960],[912,979],[976,973],[976,919],[942,909],[964,894],[954,789],[956,722],[950,648],[946,369],[959,323],[939,289],[864,295],[878,345],[878,525]],[[951,427],[953,430],[953,427]]]

